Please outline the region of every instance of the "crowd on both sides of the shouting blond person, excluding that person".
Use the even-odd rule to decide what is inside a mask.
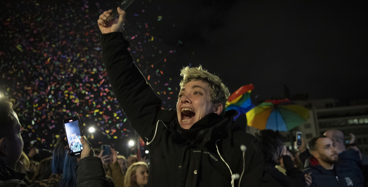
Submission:
[[[51,157],[40,162],[33,161],[32,156],[38,154],[36,149],[32,149],[28,155],[21,151],[23,144],[19,135],[21,128],[17,115],[12,110],[11,101],[0,98],[0,108],[0,120],[4,122],[2,126],[4,131],[0,136],[0,186],[17,184],[34,187],[73,187],[99,184],[144,187],[147,185],[149,162],[138,162],[134,157],[128,162],[113,148],[110,155],[103,156],[103,150],[91,151],[91,145],[85,137],[81,142],[88,149],[84,150],[86,152],[81,157],[68,155],[68,144],[65,135],[62,135],[57,140]],[[368,155],[362,154],[354,142],[350,141],[345,145],[344,134],[341,131],[328,130],[324,135],[312,138],[308,144],[301,139],[301,145],[295,142],[295,150],[283,146],[282,136],[278,131],[261,130],[255,137],[263,153],[260,156],[264,159],[264,171],[272,177],[268,180],[276,180],[265,184],[266,186],[368,186]],[[13,146],[18,150],[9,149]],[[15,160],[16,158],[19,159]],[[81,159],[85,161],[84,164]],[[212,176],[211,172],[207,175]]]

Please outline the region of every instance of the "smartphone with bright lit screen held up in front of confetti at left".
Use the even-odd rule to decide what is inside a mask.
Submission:
[[[83,146],[81,143],[82,130],[79,117],[72,117],[64,120],[64,129],[68,139],[70,155],[75,156],[81,154]]]

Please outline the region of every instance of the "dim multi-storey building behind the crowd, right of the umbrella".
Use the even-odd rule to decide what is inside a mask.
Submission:
[[[292,129],[303,132],[303,138],[308,142],[316,135],[322,135],[328,129],[338,129],[345,135],[346,143],[350,133],[355,135],[355,143],[361,152],[368,153],[368,104],[351,103],[348,106],[336,106],[335,99],[294,101],[309,108],[309,119],[304,124]],[[314,131],[314,132],[313,132]]]

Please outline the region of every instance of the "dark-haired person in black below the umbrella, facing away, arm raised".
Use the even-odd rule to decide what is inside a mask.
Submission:
[[[294,167],[287,149],[283,146],[281,135],[278,131],[265,129],[255,134],[257,140],[261,143],[263,155],[265,157],[265,172],[272,176],[283,187],[305,187],[305,178],[303,172]],[[280,158],[286,169],[286,175],[276,169],[276,164]]]

